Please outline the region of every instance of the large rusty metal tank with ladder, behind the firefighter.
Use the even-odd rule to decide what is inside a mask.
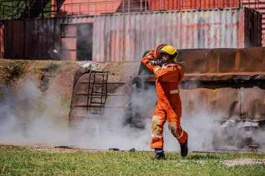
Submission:
[[[233,138],[233,142],[224,145],[241,149],[264,145],[253,135],[257,130],[264,133],[265,129],[265,48],[180,49],[179,59],[187,63],[180,84],[183,117],[195,117],[200,111],[211,114],[220,123],[215,136],[222,140],[216,141],[215,146],[220,146],[225,138]],[[119,118],[123,125],[144,128],[156,104],[155,77],[140,62],[106,65],[103,72],[109,77],[100,82],[105,87],[98,87],[105,99],[100,114],[91,113],[88,106],[88,80],[91,74],[103,72],[76,72],[69,127],[93,131],[90,122],[109,120],[110,124],[113,118]],[[232,136],[226,136],[229,130]]]

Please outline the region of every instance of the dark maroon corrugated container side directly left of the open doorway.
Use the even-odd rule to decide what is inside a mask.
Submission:
[[[89,22],[93,22],[93,17],[27,19],[25,58],[75,61],[76,51],[60,51],[61,37],[75,37],[76,30],[73,30],[76,28],[75,24]],[[61,33],[61,24],[70,24],[68,26],[73,29],[68,29]],[[73,46],[74,43],[70,43],[70,49],[73,49]],[[58,53],[54,53],[54,49]]]

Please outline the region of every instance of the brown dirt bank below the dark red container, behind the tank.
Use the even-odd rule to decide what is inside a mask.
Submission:
[[[52,110],[56,120],[68,121],[70,99],[73,91],[75,72],[80,68],[109,72],[110,82],[126,81],[136,75],[139,63],[95,63],[92,61],[32,61],[0,58],[0,100],[5,90],[16,92],[27,80],[37,82],[41,99],[56,97],[57,111]],[[10,92],[10,91],[8,91]],[[40,105],[40,109],[42,109]],[[67,125],[66,125],[67,126]]]

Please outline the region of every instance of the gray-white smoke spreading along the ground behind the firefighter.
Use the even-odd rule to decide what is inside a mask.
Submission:
[[[105,109],[104,118],[88,118],[81,122],[80,129],[74,132],[54,119],[59,109],[59,97],[56,94],[43,97],[38,82],[34,79],[22,81],[14,93],[8,88],[1,88],[3,99],[0,102],[0,143],[28,144],[43,143],[45,145],[74,145],[75,147],[102,149],[119,148],[129,150],[150,150],[150,125],[156,104],[156,88],[151,86],[146,90],[132,93],[133,120],[141,125],[135,127],[134,121],[126,122],[126,109]],[[183,97],[183,117],[181,125],[188,132],[188,147],[190,151],[211,151],[217,145],[238,145],[248,139],[258,141],[264,147],[264,130],[257,129],[253,133],[243,130],[245,127],[256,128],[252,123],[240,124],[235,121],[220,123],[222,114],[214,113],[212,109],[201,109],[196,96],[190,96],[194,110],[190,112],[185,106],[187,99]],[[109,104],[119,104],[122,99],[109,99]],[[43,108],[45,107],[45,108]],[[44,109],[44,110],[42,110]],[[136,125],[137,126],[137,125]],[[142,128],[140,128],[142,127]],[[144,128],[143,128],[144,127]],[[73,134],[73,136],[71,136]],[[166,151],[179,151],[179,143],[170,134],[167,123],[164,125],[164,141]]]

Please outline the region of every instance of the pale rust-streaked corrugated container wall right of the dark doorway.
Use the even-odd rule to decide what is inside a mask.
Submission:
[[[247,19],[246,11],[253,12],[227,9],[96,16],[93,61],[139,61],[146,49],[161,43],[178,49],[259,46],[252,38],[259,38],[261,28],[250,26],[257,26],[257,21]],[[252,35],[246,35],[246,30]]]

